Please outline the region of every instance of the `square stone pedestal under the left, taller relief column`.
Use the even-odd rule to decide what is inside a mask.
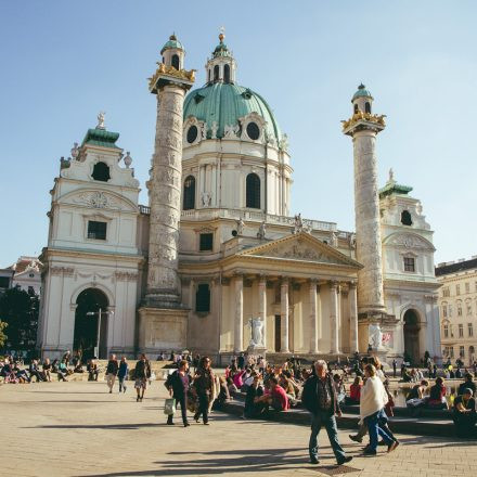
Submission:
[[[182,307],[139,309],[138,351],[157,354],[158,351],[182,351],[188,345],[188,314]]]

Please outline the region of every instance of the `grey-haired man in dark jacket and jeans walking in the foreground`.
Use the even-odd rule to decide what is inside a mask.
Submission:
[[[310,462],[318,464],[318,435],[322,426],[326,428],[330,443],[335,453],[338,465],[351,461],[352,457],[346,456],[345,451],[338,441],[338,429],[336,427],[335,415],[341,415],[341,411],[336,399],[336,391],[332,376],[327,373],[326,362],[318,360],[314,363],[315,374],[310,376],[305,383],[301,402],[311,413],[311,436],[309,442]]]

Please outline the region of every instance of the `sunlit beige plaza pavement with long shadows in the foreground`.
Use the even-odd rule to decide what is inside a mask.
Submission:
[[[308,426],[242,421],[214,413],[211,425],[165,425],[164,382],[136,402],[106,384],[40,383],[0,386],[0,476],[470,476],[477,442],[400,435],[389,455],[359,456],[346,430],[340,440],[353,461],[337,467],[325,431],[321,464],[308,463]]]

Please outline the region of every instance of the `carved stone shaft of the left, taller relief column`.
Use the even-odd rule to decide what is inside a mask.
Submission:
[[[157,128],[150,189],[150,301],[179,301],[178,247],[184,89],[169,83],[157,95]]]

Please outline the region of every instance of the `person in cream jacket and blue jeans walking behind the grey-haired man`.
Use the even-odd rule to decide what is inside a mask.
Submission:
[[[384,428],[387,416],[384,411],[388,396],[382,381],[376,376],[376,368],[366,364],[364,368],[366,383],[361,389],[360,416],[368,426],[370,444],[364,449],[364,454],[376,455],[377,436],[379,435],[388,447],[388,452],[394,451],[399,442]]]

